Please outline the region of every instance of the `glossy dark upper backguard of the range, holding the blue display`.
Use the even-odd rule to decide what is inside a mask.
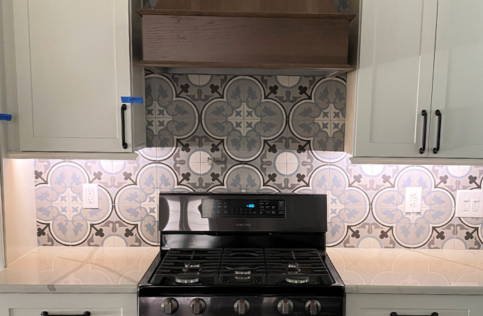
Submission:
[[[327,197],[161,193],[158,223],[159,232],[165,235],[188,231],[321,233],[327,231]],[[173,247],[182,248],[170,244]]]

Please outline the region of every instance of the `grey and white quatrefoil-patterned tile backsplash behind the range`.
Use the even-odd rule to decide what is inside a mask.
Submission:
[[[483,219],[455,217],[483,167],[354,165],[344,77],[146,75],[150,148],[136,161],[35,161],[42,246],[156,246],[159,192],[328,195],[328,245],[480,249]],[[213,159],[213,165],[208,164]],[[99,184],[99,209],[81,184]],[[423,188],[422,213],[404,212]]]

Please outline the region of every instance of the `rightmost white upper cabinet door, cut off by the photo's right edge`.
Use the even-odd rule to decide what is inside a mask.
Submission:
[[[483,1],[437,7],[430,157],[483,158]],[[442,114],[440,150],[438,118]]]

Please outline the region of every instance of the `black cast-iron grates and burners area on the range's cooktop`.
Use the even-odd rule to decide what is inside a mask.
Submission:
[[[171,249],[150,284],[208,285],[331,285],[316,249]]]

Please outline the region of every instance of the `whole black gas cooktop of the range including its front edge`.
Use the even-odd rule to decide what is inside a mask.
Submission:
[[[317,290],[315,290],[317,288]],[[162,250],[139,284],[139,296],[344,296],[325,253],[304,248],[172,248]]]

